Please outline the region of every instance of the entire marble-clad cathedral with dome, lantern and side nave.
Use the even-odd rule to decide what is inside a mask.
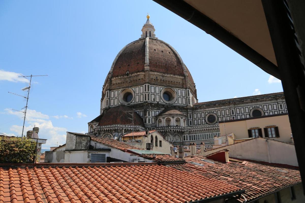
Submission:
[[[141,37],[115,57],[100,115],[88,123],[87,134],[120,140],[155,129],[174,145],[213,144],[221,136],[220,121],[281,113],[287,113],[283,93],[198,102],[191,73],[177,51],[156,37],[148,15]]]

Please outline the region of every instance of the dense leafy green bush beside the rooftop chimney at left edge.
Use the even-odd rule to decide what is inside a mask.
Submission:
[[[33,163],[36,142],[26,138],[0,138],[0,163]]]

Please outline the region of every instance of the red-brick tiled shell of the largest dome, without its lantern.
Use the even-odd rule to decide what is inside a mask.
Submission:
[[[156,38],[140,38],[127,44],[118,54],[111,66],[112,77],[135,72],[149,71],[173,75],[188,75],[188,82],[194,86],[192,75],[177,51],[166,42]]]

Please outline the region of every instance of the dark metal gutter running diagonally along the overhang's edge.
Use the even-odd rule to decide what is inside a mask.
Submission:
[[[274,65],[271,61],[264,58],[257,51],[253,50],[243,41],[239,40],[237,37],[232,35],[230,32],[225,30],[223,27],[218,25],[212,19],[199,12],[191,5],[183,0],[153,0],[154,2],[162,5],[168,10],[174,12],[178,16],[184,18],[193,25],[199,27],[201,30],[212,35],[217,40],[221,41],[258,67],[260,67],[265,72],[273,75],[274,77],[280,79],[280,74],[278,67]]]

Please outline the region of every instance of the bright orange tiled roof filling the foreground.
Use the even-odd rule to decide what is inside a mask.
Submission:
[[[185,164],[182,164],[185,165]],[[190,202],[242,190],[162,165],[0,168],[0,202]]]

